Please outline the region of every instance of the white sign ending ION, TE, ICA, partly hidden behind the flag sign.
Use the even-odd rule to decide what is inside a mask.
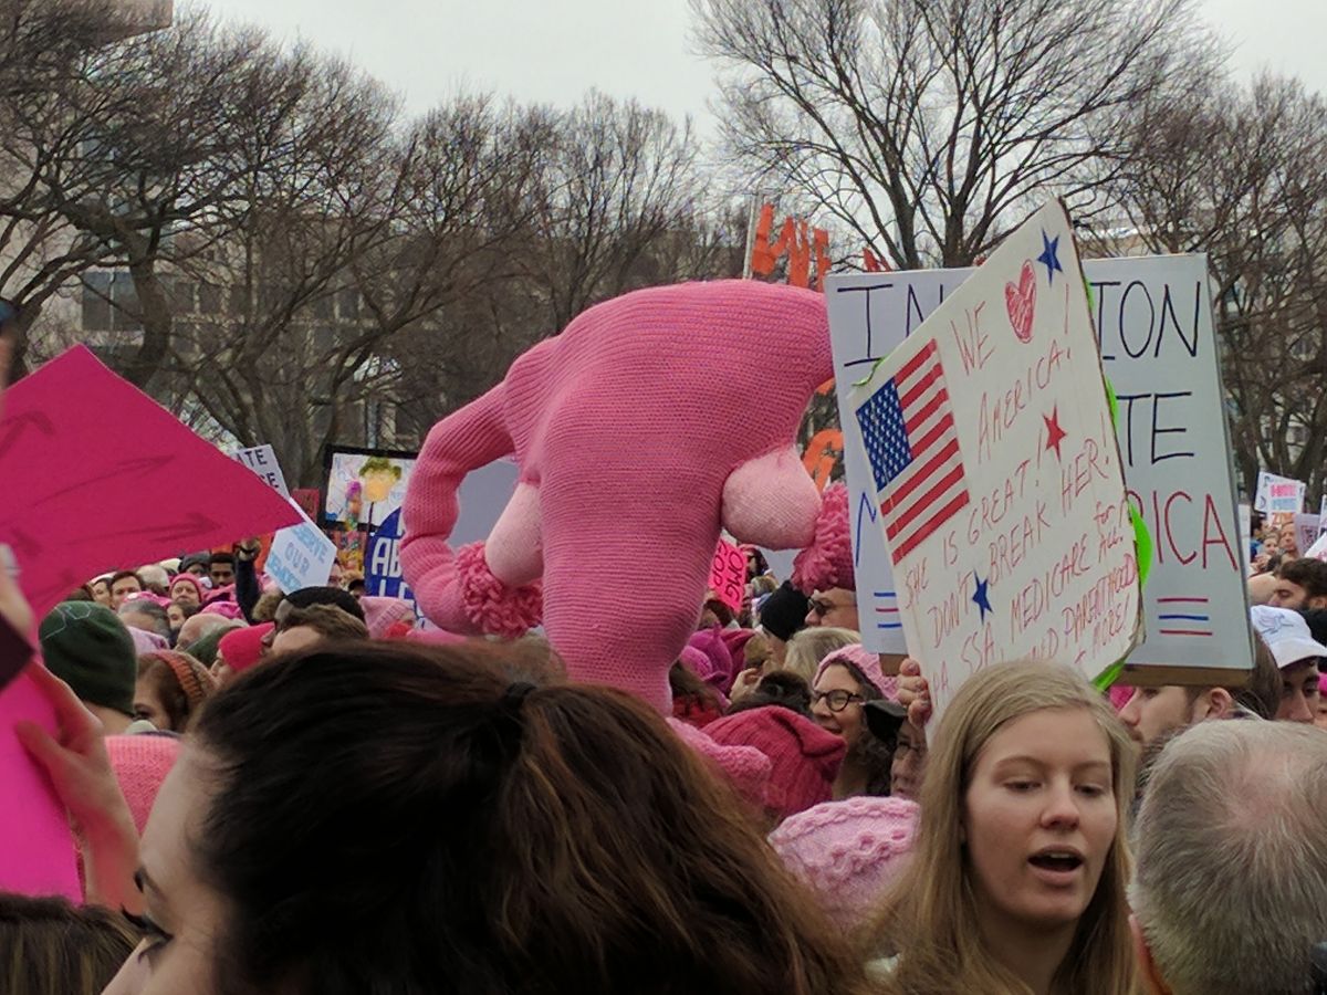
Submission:
[[[1229,669],[1251,666],[1247,618],[1241,612],[1209,610],[1209,605],[1245,604],[1247,553],[1241,549],[1247,544],[1235,539],[1241,525],[1206,259],[1085,260],[1083,269],[1092,288],[1105,374],[1120,397],[1116,434],[1125,483],[1156,539],[1144,592],[1147,641],[1129,655],[1127,679],[1202,682],[1212,679],[1214,667],[1223,669],[1220,679],[1229,679]],[[857,344],[863,358],[886,354],[971,272],[831,277],[827,302],[840,382],[844,358],[852,354],[844,342]],[[848,421],[845,434],[852,432]],[[857,513],[869,511],[871,488],[860,470],[864,456],[855,456],[853,448],[848,446],[847,470]],[[853,536],[860,540],[855,549],[859,604],[871,604],[876,592],[893,594],[882,543],[873,548],[872,529],[859,528],[856,519]],[[1213,646],[1221,646],[1220,655]]]

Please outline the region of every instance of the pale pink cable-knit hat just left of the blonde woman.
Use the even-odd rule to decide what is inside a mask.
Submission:
[[[917,817],[917,803],[908,799],[825,801],[791,816],[770,833],[770,845],[851,931],[871,919],[902,869]]]

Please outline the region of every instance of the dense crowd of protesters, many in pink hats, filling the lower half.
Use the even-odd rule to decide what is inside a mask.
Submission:
[[[932,728],[921,667],[861,645],[849,551],[779,582],[747,548],[667,716],[537,634],[280,592],[252,540],[92,580],[20,678],[57,734],[16,730],[85,902],[0,896],[3,990],[1327,990],[1327,564],[1250,581],[1251,675],[1003,663]]]

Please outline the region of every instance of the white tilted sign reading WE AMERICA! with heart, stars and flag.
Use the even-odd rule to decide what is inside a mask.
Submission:
[[[1143,637],[1133,527],[1064,208],[1047,204],[853,389],[937,718],[999,659],[1097,677]]]

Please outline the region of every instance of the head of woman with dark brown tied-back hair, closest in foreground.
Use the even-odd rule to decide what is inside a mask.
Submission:
[[[322,646],[214,696],[153,809],[107,995],[863,991],[636,698],[482,646]]]

